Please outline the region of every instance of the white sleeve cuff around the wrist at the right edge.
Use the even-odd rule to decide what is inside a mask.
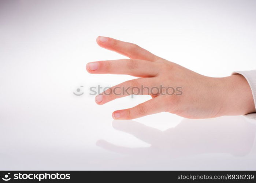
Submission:
[[[251,90],[252,90],[252,96],[253,96],[254,105],[255,105],[255,109],[256,109],[256,70],[234,71],[234,72],[232,72],[232,75],[234,75],[234,74],[243,75],[245,77],[245,79],[247,80],[247,82],[249,83]],[[245,116],[256,120],[256,113],[247,114]]]

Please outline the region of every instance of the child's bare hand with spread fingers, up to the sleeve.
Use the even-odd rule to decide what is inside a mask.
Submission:
[[[149,94],[152,99],[129,109],[114,111],[116,120],[128,120],[159,112],[170,112],[186,118],[201,119],[225,115],[245,115],[255,112],[251,88],[240,74],[223,78],[200,75],[176,63],[165,60],[136,44],[97,37],[97,44],[115,51],[130,59],[90,62],[86,70],[91,74],[126,74],[138,77],[125,81],[116,88],[120,94],[101,93],[95,101],[99,105],[127,96],[121,88],[182,87],[182,94],[159,94],[155,90],[139,91],[136,94]],[[108,89],[110,90],[110,89]]]

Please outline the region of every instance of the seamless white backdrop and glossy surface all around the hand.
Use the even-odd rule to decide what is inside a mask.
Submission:
[[[99,106],[89,87],[133,77],[85,70],[124,58],[100,48],[97,36],[207,76],[255,69],[255,9],[255,0],[0,0],[0,169],[255,170],[254,122],[170,113],[112,122],[113,111],[150,97]]]

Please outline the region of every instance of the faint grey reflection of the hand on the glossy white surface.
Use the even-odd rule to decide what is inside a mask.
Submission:
[[[229,153],[244,156],[251,152],[256,126],[243,116],[223,116],[215,119],[183,119],[176,127],[165,131],[134,121],[113,121],[116,130],[127,132],[151,144],[150,147],[129,148],[104,140],[97,146],[112,152],[134,155],[167,155],[172,157],[204,153]]]

